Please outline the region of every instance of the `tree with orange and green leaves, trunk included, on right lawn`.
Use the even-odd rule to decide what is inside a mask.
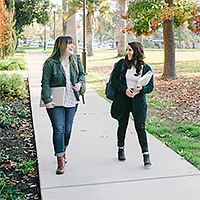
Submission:
[[[188,29],[200,34],[200,6],[189,0],[135,0],[130,2],[124,19],[132,20],[134,25],[123,31],[136,36],[148,36],[163,27],[164,70],[163,78],[175,79],[174,28],[188,22]]]

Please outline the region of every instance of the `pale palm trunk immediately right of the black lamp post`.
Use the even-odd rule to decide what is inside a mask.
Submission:
[[[86,15],[86,37],[87,37],[88,56],[94,55],[93,46],[92,46],[93,37],[94,37],[92,22],[93,22],[93,13],[88,12],[87,15]]]

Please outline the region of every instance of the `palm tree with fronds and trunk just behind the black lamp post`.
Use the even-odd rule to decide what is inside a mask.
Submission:
[[[86,14],[86,38],[87,38],[87,51],[88,56],[93,56],[93,38],[94,38],[94,27],[93,20],[94,14],[97,15],[102,13],[108,15],[108,3],[105,0],[86,0],[87,14]],[[69,19],[77,10],[82,9],[82,0],[69,0],[68,1],[68,12],[65,14],[65,19]]]

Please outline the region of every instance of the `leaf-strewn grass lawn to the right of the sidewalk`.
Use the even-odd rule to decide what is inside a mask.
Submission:
[[[155,75],[155,89],[147,95],[148,119],[146,129],[179,155],[200,169],[200,60],[191,59],[200,50],[178,50],[177,80],[161,79],[163,60],[156,50],[145,51],[145,61]],[[183,61],[181,53],[183,52]],[[185,55],[188,53],[188,60]],[[87,84],[105,97],[105,85],[113,65],[120,58],[113,49],[97,49],[87,57]],[[157,59],[158,58],[158,59]],[[191,60],[189,60],[191,59]]]

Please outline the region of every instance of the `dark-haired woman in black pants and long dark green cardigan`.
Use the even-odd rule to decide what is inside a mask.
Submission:
[[[132,112],[135,129],[143,153],[144,166],[151,166],[148,142],[145,130],[147,117],[146,94],[153,91],[153,76],[146,86],[137,81],[151,70],[145,64],[143,46],[139,42],[128,43],[125,59],[119,60],[111,75],[111,84],[115,89],[115,99],[111,106],[111,116],[118,120],[117,146],[118,160],[125,161],[125,137],[129,114]],[[134,93],[139,92],[134,95]]]

